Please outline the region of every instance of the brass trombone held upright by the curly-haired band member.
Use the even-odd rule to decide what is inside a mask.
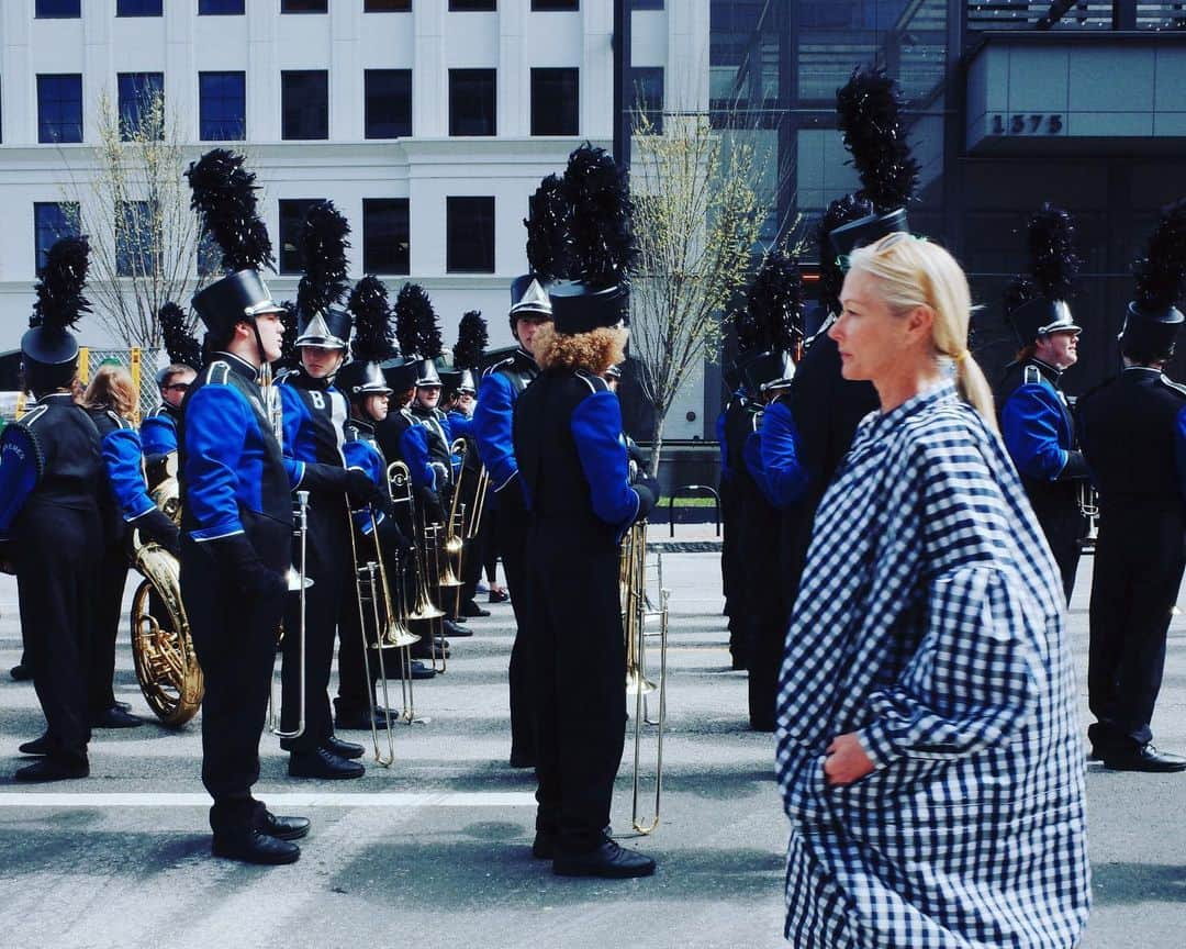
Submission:
[[[650,834],[659,824],[663,795],[663,731],[667,727],[667,651],[668,597],[663,588],[662,561],[658,562],[659,606],[653,609],[646,597],[646,522],[639,521],[626,533],[621,548],[619,586],[621,591],[623,635],[626,645],[626,695],[635,699],[635,773],[630,821],[639,834]],[[659,680],[646,677],[646,622],[659,622]],[[658,693],[658,719],[648,715],[646,696]],[[643,725],[657,726],[655,758],[655,808],[646,819],[640,815]]]

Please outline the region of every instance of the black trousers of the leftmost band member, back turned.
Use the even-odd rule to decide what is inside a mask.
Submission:
[[[9,550],[17,571],[24,662],[45,714],[50,757],[85,760],[87,681],[102,529],[97,509],[30,498]]]

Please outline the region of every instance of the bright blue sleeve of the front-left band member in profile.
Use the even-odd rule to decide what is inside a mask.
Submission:
[[[242,534],[238,464],[251,407],[230,386],[203,386],[185,408],[185,504],[198,524],[190,536],[212,541]]]

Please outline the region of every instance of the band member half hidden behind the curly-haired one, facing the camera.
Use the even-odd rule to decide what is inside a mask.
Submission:
[[[497,505],[497,543],[506,573],[506,587],[515,612],[515,644],[510,658],[511,768],[535,765],[534,702],[531,700],[531,657],[527,635],[527,508],[518,480],[518,463],[512,440],[515,403],[540,374],[535,337],[551,321],[551,302],[542,281],[533,274],[511,284],[511,336],[518,349],[489,367],[478,386],[478,407],[473,413],[473,434],[482,463],[490,472],[490,490]]]

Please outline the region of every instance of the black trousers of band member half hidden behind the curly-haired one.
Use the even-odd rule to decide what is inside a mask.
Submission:
[[[511,758],[530,762],[536,758],[535,675],[531,631],[533,612],[529,606],[531,588],[527,575],[528,512],[523,488],[515,478],[498,492],[498,548],[503,555],[503,571],[515,611],[515,643],[510,661]],[[572,555],[569,549],[565,559]],[[616,587],[617,590],[617,587]],[[618,594],[614,593],[614,603]]]

